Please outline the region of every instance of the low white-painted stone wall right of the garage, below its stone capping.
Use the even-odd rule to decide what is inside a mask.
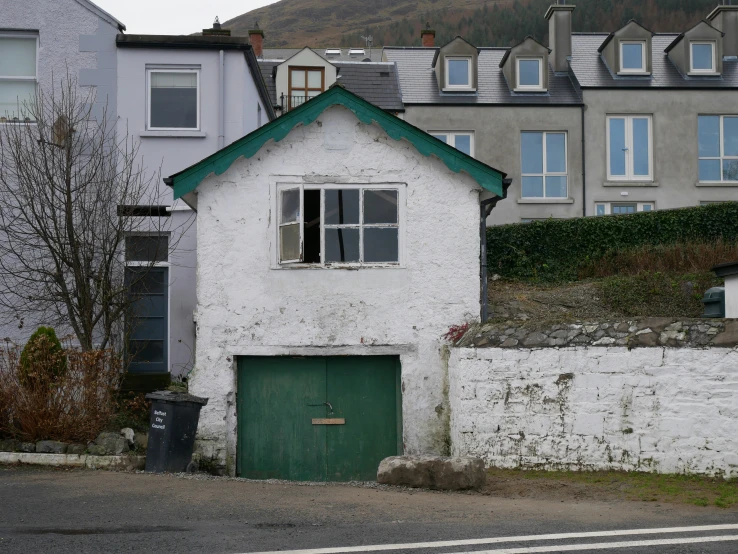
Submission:
[[[457,348],[454,455],[738,476],[736,348]]]

